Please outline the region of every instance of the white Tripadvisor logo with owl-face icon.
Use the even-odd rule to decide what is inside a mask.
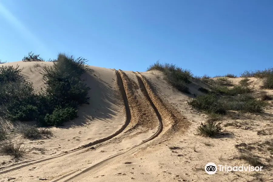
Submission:
[[[261,171],[263,167],[262,166],[227,166],[227,165],[216,165],[213,162],[209,162],[206,164],[205,166],[205,171],[207,174],[215,174],[218,171],[224,171],[224,172],[231,172],[231,171],[249,171],[249,172],[253,172],[253,171]]]

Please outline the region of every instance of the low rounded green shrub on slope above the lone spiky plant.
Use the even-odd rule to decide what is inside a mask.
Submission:
[[[195,99],[190,98],[188,104],[197,110],[206,111],[208,113],[225,114],[226,111],[222,103],[215,94],[204,94],[197,96]]]

